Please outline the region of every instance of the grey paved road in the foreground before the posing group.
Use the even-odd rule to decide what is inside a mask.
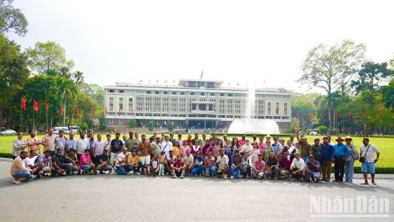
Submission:
[[[372,220],[392,221],[394,218],[394,184],[389,179],[379,179],[377,186],[361,186],[359,179],[354,184],[314,184],[282,180],[87,175],[32,182],[21,179],[23,183],[15,185],[11,182],[9,166],[10,162],[0,161],[0,221],[322,220],[311,218],[311,195],[332,199],[360,195],[388,198],[389,218]],[[324,217],[324,220],[343,221]]]

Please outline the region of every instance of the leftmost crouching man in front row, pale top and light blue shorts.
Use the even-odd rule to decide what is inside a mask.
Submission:
[[[25,167],[24,159],[28,156],[28,152],[22,150],[11,163],[10,173],[11,176],[14,178],[12,181],[14,184],[20,184],[22,182],[19,181],[21,178],[26,178],[28,181],[32,181],[34,176],[34,169],[27,169]]]

